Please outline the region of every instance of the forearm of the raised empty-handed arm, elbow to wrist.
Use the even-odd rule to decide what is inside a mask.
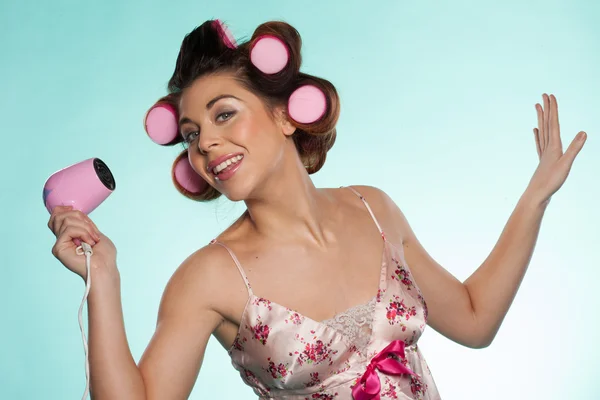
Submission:
[[[525,192],[488,258],[464,282],[485,345],[498,332],[527,271],[545,208]]]

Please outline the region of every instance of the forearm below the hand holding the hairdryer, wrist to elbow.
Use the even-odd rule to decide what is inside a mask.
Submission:
[[[95,269],[88,297],[90,398],[145,399],[142,375],[131,355],[116,268]]]

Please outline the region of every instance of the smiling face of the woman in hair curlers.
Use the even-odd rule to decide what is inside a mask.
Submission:
[[[295,130],[224,73],[199,78],[185,89],[179,116],[192,168],[233,201],[248,198],[277,169]]]

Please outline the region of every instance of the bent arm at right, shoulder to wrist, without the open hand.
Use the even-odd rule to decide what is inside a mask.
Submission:
[[[385,216],[389,239],[403,246],[406,262],[427,301],[428,324],[464,346],[488,346],[525,275],[545,207],[524,195],[491,254],[463,283],[429,255],[387,194],[372,187],[359,190],[373,200],[374,212]]]

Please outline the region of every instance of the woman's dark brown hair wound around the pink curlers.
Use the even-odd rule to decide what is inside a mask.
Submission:
[[[289,61],[285,68],[273,75],[262,73],[250,61],[250,50],[255,42],[265,35],[279,38],[289,52]],[[275,106],[286,106],[292,92],[300,86],[314,85],[325,94],[325,115],[311,124],[301,124],[290,119],[297,128],[292,139],[298,154],[307,172],[313,174],[323,167],[327,151],[335,143],[335,126],[340,114],[340,105],[337,91],[329,81],[300,72],[301,47],[300,34],[294,27],[285,22],[273,21],[260,25],[249,41],[232,49],[221,39],[215,21],[206,21],[183,39],[175,71],[169,80],[169,94],[158,102],[167,103],[177,110],[179,96],[185,88],[197,78],[216,72],[232,72],[240,84],[259,96],[270,110]],[[178,143],[183,143],[180,135],[166,146]],[[204,192],[197,194],[181,187],[175,179],[174,167],[182,157],[187,157],[187,149],[177,156],[172,166],[171,176],[177,190],[197,201],[218,198],[221,193],[210,185]]]

